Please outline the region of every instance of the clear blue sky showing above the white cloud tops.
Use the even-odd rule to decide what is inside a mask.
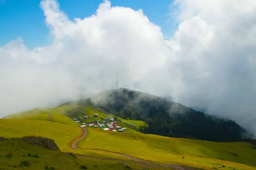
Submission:
[[[27,48],[35,48],[51,43],[49,29],[44,23],[41,0],[1,0],[0,1],[0,46],[21,37]],[[58,0],[60,9],[73,20],[95,13],[103,0]],[[2,3],[1,3],[2,2]],[[169,16],[172,0],[111,0],[111,6],[143,9],[148,19],[162,28],[166,38],[172,37],[177,25]]]

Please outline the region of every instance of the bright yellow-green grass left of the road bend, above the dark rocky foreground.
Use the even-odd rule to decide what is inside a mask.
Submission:
[[[71,149],[70,142],[81,133],[81,128],[41,120],[0,119],[0,136],[42,136],[53,139],[61,151]]]

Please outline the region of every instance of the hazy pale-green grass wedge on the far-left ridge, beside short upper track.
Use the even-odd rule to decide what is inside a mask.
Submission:
[[[29,111],[11,114],[3,119],[49,120],[49,108],[37,108]]]

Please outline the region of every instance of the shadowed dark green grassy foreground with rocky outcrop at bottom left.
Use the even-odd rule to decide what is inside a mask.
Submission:
[[[91,158],[73,158],[64,153],[53,150],[46,150],[39,146],[33,146],[17,139],[0,142],[0,169],[3,170],[43,170],[48,167],[55,167],[56,170],[81,170],[80,166],[84,165],[89,170],[125,170],[122,162],[107,161]],[[12,154],[7,158],[6,155]],[[28,156],[31,153],[32,156]],[[38,155],[36,158],[33,155]],[[30,162],[30,167],[19,167],[21,160]],[[143,166],[134,163],[125,163],[133,169],[143,169]],[[16,166],[16,167],[14,167]],[[153,170],[154,168],[148,168]],[[160,169],[161,170],[161,169]]]

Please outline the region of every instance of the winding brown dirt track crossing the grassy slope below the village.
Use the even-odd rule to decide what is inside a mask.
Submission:
[[[82,132],[81,132],[80,136],[78,136],[75,139],[75,141],[72,143],[72,145],[71,145],[73,149],[80,149],[78,147],[78,142],[81,141],[82,139],[84,139],[85,136],[87,135],[87,129],[86,128],[82,128],[82,127],[81,127],[81,129],[82,129]],[[102,149],[88,149],[88,150],[102,150]],[[136,163],[136,164],[140,164],[140,165],[145,166],[145,167],[163,168],[163,167],[160,167],[160,166],[164,166],[164,167],[172,168],[174,170],[196,170],[193,167],[186,167],[186,166],[183,166],[183,165],[175,165],[175,164],[161,164],[161,163],[156,163],[156,162],[152,162],[152,161],[146,161],[144,159],[135,158],[133,156],[125,155],[123,153],[112,152],[112,151],[108,151],[108,150],[102,150],[102,151],[109,152],[109,153],[115,153],[115,154],[117,154],[119,156],[123,156],[125,158],[132,159],[132,160],[138,161],[138,162],[125,161],[125,160],[119,160],[119,159],[110,159],[110,158],[99,158],[99,157],[93,157],[93,156],[82,156],[82,155],[76,155],[76,156],[77,157],[81,157],[81,158],[92,158],[92,159],[102,159],[102,160],[109,160],[109,161]],[[149,163],[149,164],[142,164],[140,162]],[[152,165],[152,164],[154,164],[154,165]]]

